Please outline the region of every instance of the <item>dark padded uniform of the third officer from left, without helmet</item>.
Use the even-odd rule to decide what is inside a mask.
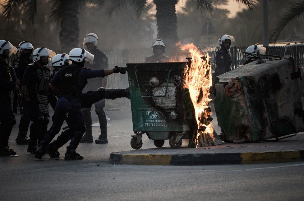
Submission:
[[[33,123],[30,125],[30,143],[27,152],[35,153],[38,143],[43,139],[48,130],[49,108],[48,98],[45,90],[50,81],[51,70],[47,66],[40,68],[36,63],[27,65],[22,86],[27,86],[27,96],[30,99],[30,105],[25,105],[30,111],[30,119]],[[40,92],[38,92],[40,91]]]

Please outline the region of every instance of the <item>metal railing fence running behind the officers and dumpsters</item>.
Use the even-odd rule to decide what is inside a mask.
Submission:
[[[246,61],[244,56],[244,51],[247,47],[231,47],[229,50],[230,56],[232,58],[232,69],[240,67]],[[211,66],[215,67],[215,54],[218,47],[205,48],[204,51],[211,56]],[[68,51],[55,51],[56,53],[64,53]],[[151,48],[139,48],[139,49],[102,49],[108,57],[109,68],[114,66],[124,66],[127,63],[143,63],[145,62],[145,57],[151,54]],[[292,57],[296,68],[299,68],[301,75],[304,79],[303,66],[304,66],[304,45],[296,46],[273,46],[267,48],[267,54],[278,55],[280,57]],[[9,65],[18,55],[13,54],[9,59]],[[52,66],[49,65],[52,69]],[[127,75],[113,74],[108,76],[107,88],[126,88],[128,86]],[[301,95],[304,95],[303,83],[299,81]],[[115,100],[107,101],[108,109],[130,107],[130,101],[126,98],[119,98]]]

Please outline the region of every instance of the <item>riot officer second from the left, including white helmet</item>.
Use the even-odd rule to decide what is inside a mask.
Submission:
[[[20,54],[20,57],[16,58],[12,66],[14,66],[17,78],[20,80],[20,84],[22,83],[23,74],[25,71],[25,68],[28,64],[33,63],[33,60],[30,58],[33,53],[34,47],[32,43],[29,41],[23,41],[18,46],[18,53]],[[14,101],[17,96],[14,96]],[[19,123],[19,132],[18,136],[16,138],[17,144],[29,144],[29,139],[26,137],[27,130],[30,125],[30,115],[29,111],[23,110],[23,115],[20,118]]]

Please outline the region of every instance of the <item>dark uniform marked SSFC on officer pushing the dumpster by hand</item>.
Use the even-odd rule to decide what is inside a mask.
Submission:
[[[71,76],[70,76],[71,75]],[[73,131],[70,146],[67,147],[65,160],[81,160],[83,159],[75,152],[82,135],[85,132],[83,113],[81,112],[81,91],[87,83],[87,79],[94,77],[104,77],[103,70],[91,71],[77,64],[62,67],[51,80],[53,86],[60,86],[60,95],[56,103],[54,115],[52,117],[53,124],[47,131],[46,137],[42,144],[46,146],[53,137],[60,131],[63,119],[67,113],[69,116],[70,129]],[[70,133],[68,133],[70,135]],[[68,136],[69,137],[69,136]],[[67,139],[67,138],[66,138]],[[38,150],[37,150],[38,151]],[[42,154],[37,154],[40,158]],[[36,155],[35,155],[36,157]]]

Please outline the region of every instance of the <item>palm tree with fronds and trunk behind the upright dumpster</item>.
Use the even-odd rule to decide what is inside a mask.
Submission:
[[[108,9],[109,13],[113,11],[126,8],[130,5],[135,8],[138,16],[142,11],[149,8],[149,2],[147,0],[108,0],[110,2],[110,7]],[[213,12],[213,5],[215,0],[188,0],[196,2],[198,9],[207,9]],[[177,37],[177,16],[175,11],[175,6],[178,0],[153,0],[156,5],[156,19],[158,28],[158,38],[163,39],[167,44],[172,45],[178,42]],[[255,7],[256,2],[252,0],[236,0],[236,2],[243,3],[246,7],[252,10]],[[187,27],[185,27],[187,29]]]

